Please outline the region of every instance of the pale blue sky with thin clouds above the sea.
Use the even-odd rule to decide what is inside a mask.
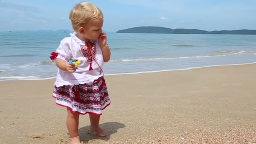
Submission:
[[[80,0],[0,0],[0,31],[72,29],[69,11]],[[256,0],[90,0],[104,29],[161,26],[203,30],[256,29]]]

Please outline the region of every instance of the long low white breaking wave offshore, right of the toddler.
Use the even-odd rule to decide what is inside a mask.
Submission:
[[[188,59],[188,58],[205,58],[218,56],[231,56],[235,54],[246,53],[246,51],[217,51],[216,53],[198,55],[198,56],[181,56],[181,57],[158,57],[158,58],[135,58],[135,59],[112,59],[110,61],[147,61],[147,60],[163,60],[163,59]]]

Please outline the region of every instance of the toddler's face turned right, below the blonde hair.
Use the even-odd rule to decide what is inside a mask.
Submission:
[[[89,21],[85,27],[81,27],[79,32],[87,40],[97,40],[102,32],[103,19]]]

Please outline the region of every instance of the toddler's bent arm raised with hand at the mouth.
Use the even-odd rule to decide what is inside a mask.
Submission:
[[[104,62],[108,62],[111,56],[109,45],[107,44],[107,34],[101,33],[99,36],[99,44],[101,46],[101,51],[103,55]]]

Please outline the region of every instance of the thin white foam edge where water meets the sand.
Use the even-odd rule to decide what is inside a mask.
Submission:
[[[158,71],[144,71],[144,72],[131,72],[131,73],[117,73],[117,74],[106,74],[104,76],[108,75],[136,75],[136,74],[146,74],[146,73],[159,73],[159,72],[171,72],[171,71],[186,71],[191,69],[201,69],[201,68],[208,68],[208,67],[229,67],[229,66],[239,66],[239,65],[249,65],[249,64],[256,64],[255,62],[251,63],[243,63],[243,64],[218,64],[218,65],[210,65],[210,66],[204,66],[204,67],[189,67],[184,69],[164,69],[164,70],[158,70]],[[17,76],[19,77],[19,76]],[[35,78],[35,79],[11,79],[11,80],[0,80],[0,82],[6,82],[6,81],[38,81],[38,80],[52,80],[56,77],[49,77],[49,78]]]

